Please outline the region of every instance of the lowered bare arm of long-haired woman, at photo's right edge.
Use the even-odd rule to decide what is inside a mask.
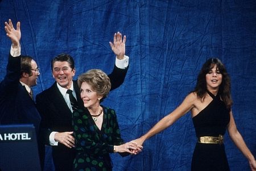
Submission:
[[[247,148],[243,137],[240,132],[237,130],[236,123],[234,122],[232,111],[230,111],[230,122],[228,125],[228,132],[230,138],[233,140],[234,144],[236,144],[237,148],[245,155],[248,159],[251,170],[256,170],[256,161],[254,159],[253,154],[251,154],[249,148]]]

